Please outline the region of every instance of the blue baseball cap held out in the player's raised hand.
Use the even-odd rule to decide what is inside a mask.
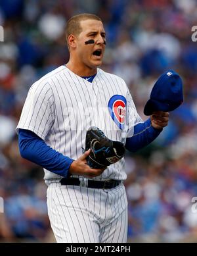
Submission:
[[[144,107],[144,115],[150,116],[154,111],[169,112],[183,103],[183,82],[179,74],[167,70],[158,78]]]

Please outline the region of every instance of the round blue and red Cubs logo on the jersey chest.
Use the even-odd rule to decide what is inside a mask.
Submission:
[[[108,109],[112,119],[120,128],[123,130],[125,126],[125,115],[126,115],[127,100],[122,95],[114,95],[108,102]]]

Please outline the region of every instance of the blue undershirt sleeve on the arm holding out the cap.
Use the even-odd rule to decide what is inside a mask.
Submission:
[[[154,141],[162,132],[163,129],[155,129],[150,121],[150,118],[145,122],[134,126],[133,137],[127,138],[125,148],[131,152],[135,152],[142,147]]]

